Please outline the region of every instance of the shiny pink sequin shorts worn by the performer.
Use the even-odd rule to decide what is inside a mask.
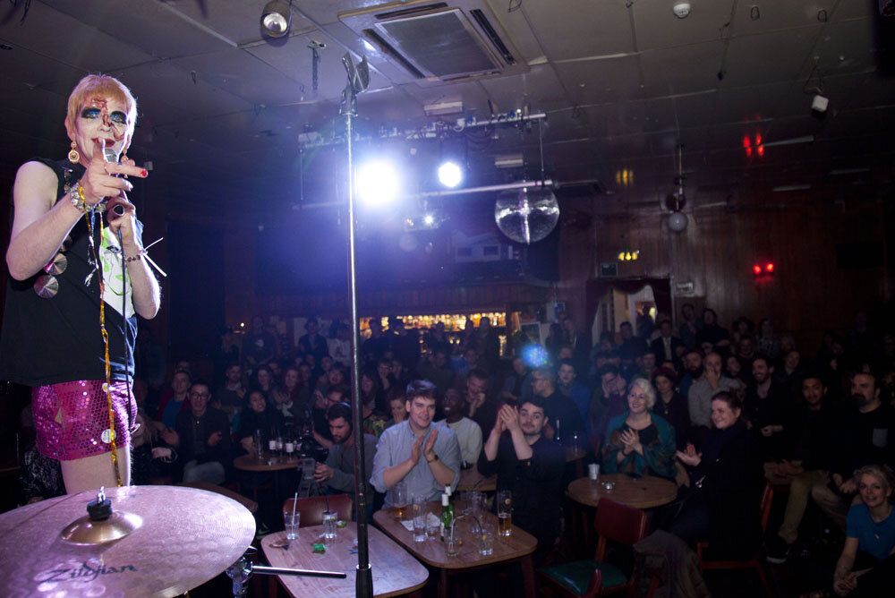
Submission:
[[[71,461],[109,452],[109,410],[105,380],[75,380],[31,390],[31,409],[38,434],[38,452],[44,457]],[[124,381],[113,381],[112,409],[115,448],[131,443],[137,420],[137,403]]]

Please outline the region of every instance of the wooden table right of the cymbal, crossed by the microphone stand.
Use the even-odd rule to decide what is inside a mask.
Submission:
[[[286,532],[277,532],[261,540],[261,550],[264,551],[264,556],[272,567],[344,571],[348,576],[345,579],[277,576],[289,595],[295,598],[298,596],[353,598],[354,581],[357,577],[357,554],[351,550],[355,548],[357,526],[353,521],[349,522],[347,526],[337,531],[336,539],[327,544],[327,551],[317,554],[311,550],[311,542],[316,541],[322,533],[323,525],[301,527],[298,530],[298,540],[290,544],[289,550],[284,550],[271,545],[272,542],[280,542],[286,538]],[[367,545],[373,574],[373,595],[408,594],[425,585],[429,571],[372,525],[367,527]]]

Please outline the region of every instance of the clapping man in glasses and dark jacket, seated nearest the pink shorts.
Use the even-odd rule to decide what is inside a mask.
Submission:
[[[230,423],[220,409],[209,407],[211,392],[205,382],[190,387],[190,410],[177,415],[175,430],[162,439],[180,452],[183,482],[223,483],[232,458]]]

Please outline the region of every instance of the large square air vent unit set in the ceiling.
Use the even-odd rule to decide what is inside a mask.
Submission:
[[[414,79],[456,81],[528,70],[483,0],[381,4],[340,13],[339,20]]]

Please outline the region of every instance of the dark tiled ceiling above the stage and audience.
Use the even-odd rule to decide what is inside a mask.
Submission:
[[[502,74],[459,81],[414,78],[362,39],[348,13],[382,3],[295,0],[289,36],[279,39],[261,34],[264,4],[0,4],[4,165],[34,152],[64,156],[67,95],[83,74],[104,72],[138,97],[131,155],[153,163],[155,189],[167,197],[199,209],[252,195],[334,201],[344,187],[344,154],[328,141],[341,126],[341,57],[350,50],[371,63],[358,119],[371,141],[359,152],[394,150],[416,171],[460,145],[476,183],[539,176],[542,133],[548,178],[583,184],[627,209],[660,208],[680,143],[687,210],[780,201],[794,188],[827,196],[891,191],[895,82],[887,73],[895,64],[886,47],[891,24],[876,0],[692,0],[685,19],[673,13],[674,0],[446,0],[444,10],[481,11],[514,61]],[[389,7],[430,4],[438,3]],[[423,49],[426,42],[415,40]],[[316,90],[314,43],[325,44]],[[447,50],[445,60],[458,54]],[[812,114],[817,93],[829,98],[823,118]],[[546,118],[542,131],[539,121],[460,135],[447,126],[408,140],[439,120],[423,111],[439,102],[462,102],[462,113],[441,117],[451,124],[516,110]],[[382,140],[383,131],[417,134]],[[311,135],[300,138],[304,132]],[[322,147],[303,148],[310,139]],[[526,169],[493,167],[496,156],[518,152]],[[420,172],[414,181],[413,192],[432,184]]]

